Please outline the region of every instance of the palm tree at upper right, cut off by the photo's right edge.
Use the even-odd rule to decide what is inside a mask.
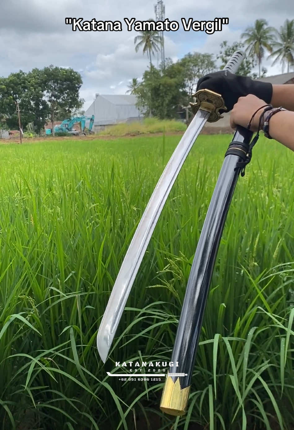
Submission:
[[[280,31],[276,30],[278,40],[273,43],[273,51],[268,58],[276,57],[273,64],[277,61],[282,62],[282,73],[284,72],[285,63],[287,64],[287,72],[289,73],[290,66],[294,66],[294,19],[291,21],[286,19],[284,25],[281,25]]]

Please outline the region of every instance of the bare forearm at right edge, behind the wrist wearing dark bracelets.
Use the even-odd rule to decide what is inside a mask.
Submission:
[[[269,132],[273,139],[294,151],[294,112],[281,111],[274,114],[269,121]]]

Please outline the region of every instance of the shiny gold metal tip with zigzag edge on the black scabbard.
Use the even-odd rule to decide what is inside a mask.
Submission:
[[[161,411],[170,415],[185,415],[189,393],[190,386],[181,390],[179,378],[173,382],[171,376],[167,376],[161,397]]]

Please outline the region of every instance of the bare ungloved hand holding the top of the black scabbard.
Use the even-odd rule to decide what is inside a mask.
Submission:
[[[246,97],[240,97],[230,114],[230,126],[232,129],[236,129],[236,126],[242,126],[247,128],[252,115],[262,106],[267,104],[264,100],[256,97],[253,94],[246,95]],[[260,109],[256,112],[253,117],[250,130],[253,132],[258,131],[259,119],[264,109]]]

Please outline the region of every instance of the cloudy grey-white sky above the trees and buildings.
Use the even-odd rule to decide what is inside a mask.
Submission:
[[[30,71],[49,64],[71,67],[82,76],[84,108],[95,94],[125,94],[133,77],[148,68],[147,55],[135,52],[138,32],[127,31],[124,18],[155,18],[155,0],[0,0],[0,76]],[[177,61],[188,52],[217,54],[220,43],[240,40],[246,27],[264,18],[277,29],[294,18],[293,0],[164,0],[165,18],[179,22],[179,30],[164,33],[165,56]],[[120,21],[122,31],[73,31],[65,18]],[[229,18],[222,31],[206,34],[184,31],[181,18],[213,21]],[[157,56],[152,60],[157,66]],[[280,64],[263,61],[267,76],[282,73]],[[285,70],[286,71],[286,70]]]

